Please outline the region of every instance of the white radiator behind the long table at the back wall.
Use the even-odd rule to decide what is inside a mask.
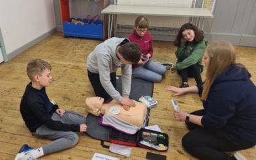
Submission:
[[[136,6],[165,6],[165,7],[195,7],[196,0],[115,0],[114,5]],[[117,15],[114,35],[118,33],[131,33],[136,18],[140,15]],[[191,18],[177,18],[165,16],[146,16],[149,21],[148,30],[157,35],[176,35],[178,29]]]

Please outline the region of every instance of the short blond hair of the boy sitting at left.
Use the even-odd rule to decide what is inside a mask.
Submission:
[[[27,64],[27,76],[31,81],[34,81],[35,75],[42,75],[46,69],[52,70],[52,66],[48,62],[42,59],[30,60]]]

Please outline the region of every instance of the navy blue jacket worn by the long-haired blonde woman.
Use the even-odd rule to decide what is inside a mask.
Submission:
[[[221,129],[241,144],[256,144],[256,87],[246,68],[232,64],[212,84],[203,101],[202,125]],[[199,88],[200,90],[200,88]]]

